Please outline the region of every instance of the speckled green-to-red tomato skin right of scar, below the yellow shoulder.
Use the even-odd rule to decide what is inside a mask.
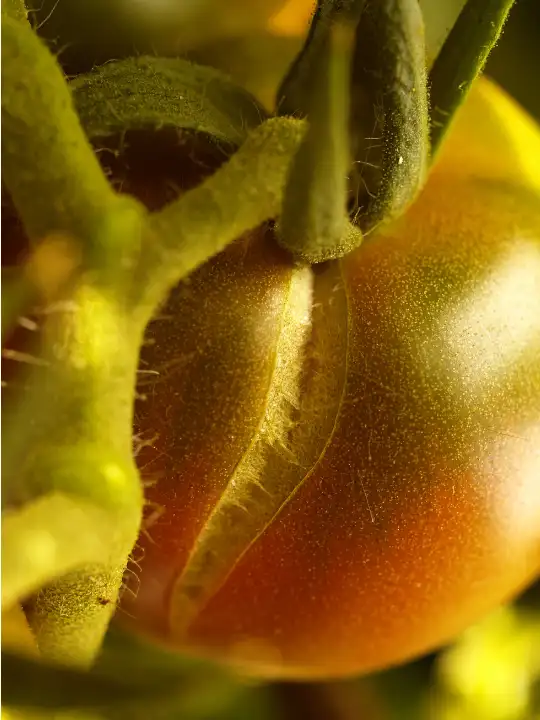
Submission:
[[[270,674],[405,660],[540,565],[540,205],[434,183],[342,267],[349,373],[335,434],[189,638]],[[496,347],[481,352],[482,334]]]

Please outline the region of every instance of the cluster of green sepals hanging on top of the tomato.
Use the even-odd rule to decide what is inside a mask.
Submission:
[[[406,212],[512,4],[469,0],[428,79],[418,0],[319,0],[277,96],[280,113],[308,120],[278,235],[298,260],[353,249],[345,207],[357,243]]]

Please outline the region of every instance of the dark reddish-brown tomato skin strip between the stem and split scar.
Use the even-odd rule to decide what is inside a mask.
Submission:
[[[264,412],[291,271],[260,228],[175,288],[148,329],[135,408],[147,512],[124,607],[152,634],[168,635],[167,589]]]

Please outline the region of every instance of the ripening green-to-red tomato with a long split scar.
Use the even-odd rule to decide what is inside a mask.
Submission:
[[[312,268],[271,234],[148,329],[123,617],[251,673],[365,672],[540,568],[540,133],[483,81],[401,220]]]

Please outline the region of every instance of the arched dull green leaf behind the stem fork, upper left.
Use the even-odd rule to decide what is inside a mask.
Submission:
[[[71,82],[91,138],[173,127],[238,146],[266,113],[226,75],[179,58],[110,62]]]

